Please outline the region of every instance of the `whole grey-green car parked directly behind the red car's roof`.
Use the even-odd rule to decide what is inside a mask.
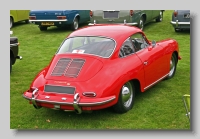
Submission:
[[[144,25],[152,20],[161,22],[164,10],[91,10],[90,24],[127,24],[144,29]]]

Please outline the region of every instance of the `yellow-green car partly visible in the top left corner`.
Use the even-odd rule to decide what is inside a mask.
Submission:
[[[29,12],[30,10],[10,10],[10,28],[13,27],[14,23],[20,21],[29,23]]]

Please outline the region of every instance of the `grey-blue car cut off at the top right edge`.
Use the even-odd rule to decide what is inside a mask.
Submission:
[[[174,10],[170,23],[174,27],[175,32],[190,30],[190,10]]]

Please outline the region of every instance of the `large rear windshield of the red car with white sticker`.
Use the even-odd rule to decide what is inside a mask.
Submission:
[[[109,58],[115,49],[115,41],[99,36],[80,36],[67,38],[61,44],[57,54],[78,53]]]

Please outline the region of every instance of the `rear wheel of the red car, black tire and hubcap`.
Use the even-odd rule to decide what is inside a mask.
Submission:
[[[118,102],[113,106],[117,113],[131,110],[135,99],[135,86],[131,82],[125,83],[119,93]]]

